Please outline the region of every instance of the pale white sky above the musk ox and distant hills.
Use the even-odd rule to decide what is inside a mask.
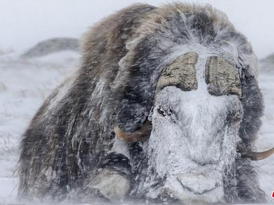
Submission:
[[[0,0],[0,49],[23,51],[51,37],[79,38],[108,14],[132,3],[162,0]],[[273,0],[186,0],[210,3],[247,36],[258,57],[274,53]]]

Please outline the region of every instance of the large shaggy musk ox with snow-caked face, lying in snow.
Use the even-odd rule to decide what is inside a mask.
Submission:
[[[21,142],[21,197],[262,202],[257,59],[210,5],[137,4],[82,42]]]

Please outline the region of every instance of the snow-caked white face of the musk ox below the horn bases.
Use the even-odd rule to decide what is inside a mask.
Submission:
[[[214,86],[225,87],[219,82],[223,78],[215,77],[217,82],[210,85],[207,64],[208,58],[198,57],[197,86],[188,83],[194,89],[168,85],[155,95],[152,131],[143,148],[149,169],[166,180],[152,195],[167,193],[187,203],[223,201],[223,181],[233,172],[242,105],[236,92],[218,93],[222,89]],[[233,86],[224,90],[233,92]]]

